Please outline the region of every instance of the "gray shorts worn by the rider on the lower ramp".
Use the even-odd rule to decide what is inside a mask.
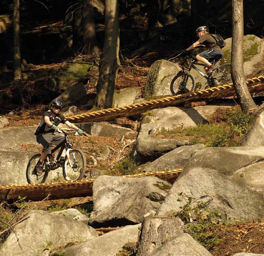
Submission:
[[[59,145],[63,142],[64,136],[57,135],[55,133],[45,133],[37,135],[37,142],[43,146],[42,153],[51,154],[51,145]],[[68,138],[69,143],[71,143],[70,138]]]

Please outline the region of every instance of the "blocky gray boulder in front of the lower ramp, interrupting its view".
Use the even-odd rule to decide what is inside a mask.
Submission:
[[[94,208],[89,225],[108,227],[140,223],[145,214],[160,207],[170,188],[171,184],[156,177],[99,176],[93,184]]]

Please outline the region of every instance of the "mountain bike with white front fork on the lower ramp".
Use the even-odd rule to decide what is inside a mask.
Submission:
[[[33,155],[29,160],[26,167],[26,180],[29,184],[44,183],[51,170],[56,170],[62,167],[62,173],[65,180],[81,180],[83,179],[86,169],[86,158],[82,151],[74,149],[69,143],[67,136],[70,134],[78,135],[77,132],[66,133],[62,130],[58,131],[64,134],[64,140],[54,149],[51,150],[51,154],[47,155],[47,158],[43,163],[43,173],[39,174],[36,171],[36,164],[39,161],[40,154]],[[55,159],[54,152],[58,149],[59,153]],[[63,163],[59,163],[59,158],[66,149],[66,157]]]

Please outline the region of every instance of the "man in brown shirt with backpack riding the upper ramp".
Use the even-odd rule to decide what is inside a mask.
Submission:
[[[221,48],[218,46],[216,40],[213,36],[209,35],[207,32],[206,26],[198,27],[196,30],[197,36],[199,37],[198,41],[193,43],[190,47],[184,50],[184,53],[189,52],[193,48],[197,47],[199,44],[205,44],[206,50],[201,52],[195,56],[195,58],[201,61],[203,64],[207,66],[204,68],[205,72],[210,73],[214,70],[214,65],[212,65],[213,60],[220,60],[223,52]]]

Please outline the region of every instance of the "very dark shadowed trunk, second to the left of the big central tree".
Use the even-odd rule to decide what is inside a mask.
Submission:
[[[72,48],[79,48],[82,42],[82,4],[80,0],[73,2],[73,21],[72,21]]]

